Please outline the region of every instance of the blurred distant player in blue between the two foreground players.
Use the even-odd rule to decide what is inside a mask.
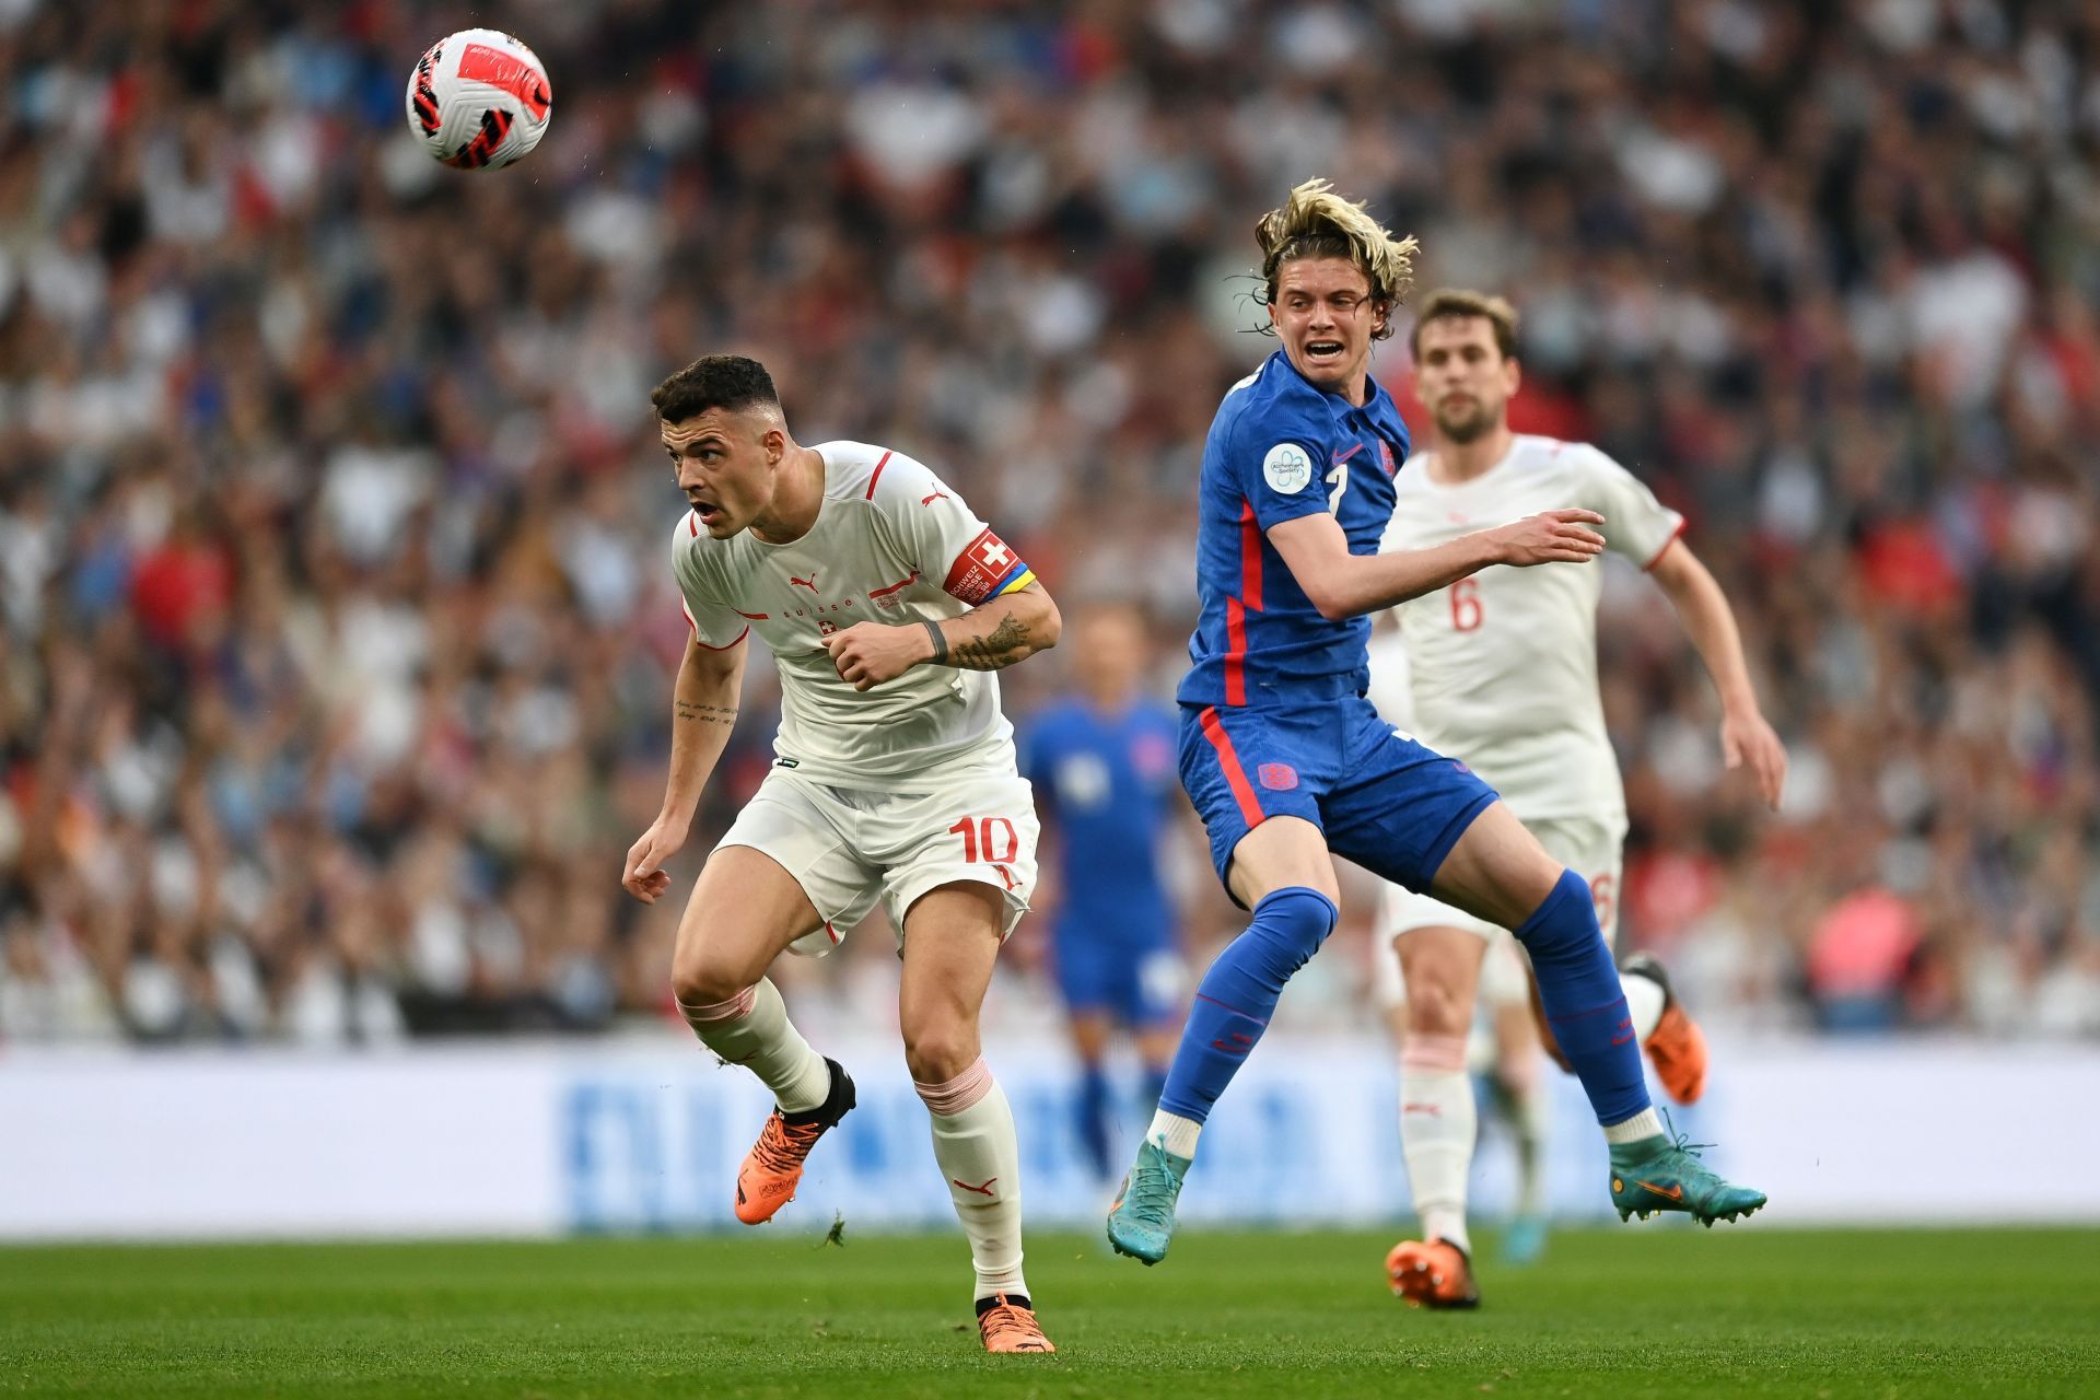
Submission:
[[[1182,959],[1163,844],[1180,798],[1176,722],[1142,688],[1151,642],[1136,607],[1075,611],[1065,653],[1079,688],[1027,728],[1023,772],[1056,842],[1050,959],[1079,1056],[1079,1144],[1109,1175],[1111,1033],[1121,1024],[1136,1037],[1147,1104],[1159,1102],[1174,1056]]]

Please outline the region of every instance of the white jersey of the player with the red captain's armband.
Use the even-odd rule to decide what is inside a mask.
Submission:
[[[932,781],[1014,770],[1014,726],[991,672],[914,665],[872,691],[840,680],[823,638],[857,621],[960,617],[1035,579],[956,491],[911,458],[819,443],[823,506],[806,535],[714,539],[693,514],[672,533],[672,569],[701,646],[752,628],[781,676],[783,768],[834,787],[928,791]]]

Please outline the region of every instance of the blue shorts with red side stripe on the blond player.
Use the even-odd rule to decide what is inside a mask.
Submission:
[[[1180,772],[1218,879],[1247,831],[1304,816],[1334,854],[1426,894],[1457,837],[1495,802],[1472,768],[1407,739],[1361,695],[1294,709],[1182,705]]]

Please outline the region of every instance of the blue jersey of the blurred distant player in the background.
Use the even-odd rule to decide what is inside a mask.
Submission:
[[[1052,810],[1063,848],[1058,932],[1128,930],[1172,942],[1159,842],[1174,810],[1176,718],[1134,703],[1100,714],[1060,701],[1023,739],[1023,772]]]

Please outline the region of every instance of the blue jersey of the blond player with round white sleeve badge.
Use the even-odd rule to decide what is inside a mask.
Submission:
[[[1294,705],[1363,695],[1371,621],[1327,621],[1298,588],[1268,529],[1317,510],[1378,554],[1407,424],[1378,380],[1359,409],[1312,386],[1283,351],[1233,386],[1203,443],[1197,508],[1197,625],[1182,705]]]

